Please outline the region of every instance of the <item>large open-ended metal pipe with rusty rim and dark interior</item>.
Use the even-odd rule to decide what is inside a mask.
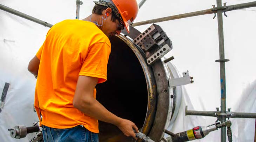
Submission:
[[[97,100],[117,116],[133,121],[141,128],[141,132],[154,141],[160,141],[164,130],[169,128],[169,124],[165,126],[166,121],[170,122],[170,119],[176,117],[174,112],[180,104],[178,97],[181,96],[181,88],[168,90],[168,87],[164,89],[159,84],[164,83],[168,77],[160,70],[160,66],[166,68],[170,62],[165,64],[159,60],[159,70],[154,70],[147,64],[143,50],[133,41],[120,35],[110,38],[110,42],[112,49],[108,62],[108,80],[97,84]],[[168,70],[171,77],[177,75],[175,69]],[[155,79],[155,76],[163,76],[164,79]],[[165,83],[168,84],[167,81]],[[160,93],[165,95],[159,96]],[[176,99],[171,99],[171,95]],[[134,141],[112,124],[99,122],[99,129],[100,141]]]

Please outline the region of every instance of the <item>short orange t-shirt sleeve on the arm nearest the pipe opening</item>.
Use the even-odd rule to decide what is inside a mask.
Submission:
[[[105,42],[90,46],[79,75],[97,77],[99,78],[98,83],[105,82],[109,54],[110,46]]]

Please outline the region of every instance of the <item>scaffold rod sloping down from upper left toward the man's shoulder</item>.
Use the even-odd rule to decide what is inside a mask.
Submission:
[[[1,5],[1,4],[0,4],[0,9],[2,9],[3,11],[6,11],[6,12],[12,13],[12,14],[14,14],[14,15],[20,16],[20,17],[22,17],[22,18],[25,18],[25,19],[27,19],[27,20],[30,20],[30,21],[39,23],[39,24],[41,24],[41,25],[43,25],[43,26],[46,26],[46,27],[49,27],[49,28],[53,26],[53,25],[50,24],[50,23],[47,23],[47,22],[42,21],[42,20],[39,20],[39,19],[37,19],[37,18],[34,18],[34,17],[32,17],[32,16],[29,16],[29,15],[27,15],[27,14],[25,14],[25,13],[21,13],[21,12],[19,12],[19,11],[16,11],[16,10],[14,10],[14,9],[12,9],[12,8],[9,8],[9,7],[4,6],[4,5]]]

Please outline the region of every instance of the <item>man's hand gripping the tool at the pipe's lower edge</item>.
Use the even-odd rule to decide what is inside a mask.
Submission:
[[[132,121],[121,119],[121,121],[117,124],[117,127],[123,132],[125,136],[132,136],[135,140],[137,140],[135,133],[139,133],[139,130]]]

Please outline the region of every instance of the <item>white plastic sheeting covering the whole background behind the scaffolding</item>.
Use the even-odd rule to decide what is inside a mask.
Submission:
[[[139,0],[138,0],[139,2]],[[169,1],[163,0],[155,7],[156,1],[146,1],[140,9],[136,21],[159,18],[186,12],[208,9],[216,4],[215,0]],[[225,1],[223,1],[225,2]],[[230,1],[227,1],[230,2]],[[232,4],[249,2],[234,0]],[[51,24],[75,18],[75,0],[0,0],[6,5]],[[196,5],[195,5],[196,4]],[[88,16],[93,2],[83,0],[80,17]],[[228,3],[228,5],[231,5]],[[145,8],[147,7],[147,8]],[[148,11],[153,9],[154,11]],[[158,9],[160,8],[160,9]],[[256,112],[255,80],[255,35],[256,12],[227,12],[224,18],[224,38],[227,59],[227,108],[231,111]],[[171,131],[178,133],[195,126],[207,126],[215,122],[215,117],[185,116],[185,106],[189,110],[214,110],[220,106],[217,22],[209,21],[214,15],[197,16],[159,24],[170,39],[174,49],[173,62],[180,72],[189,70],[195,83],[182,87],[180,111]],[[136,22],[135,21],[135,22]],[[189,23],[189,24],[188,24]],[[144,31],[150,25],[137,27]],[[33,112],[34,76],[27,71],[27,65],[39,49],[49,28],[38,25],[18,16],[0,10],[0,90],[5,82],[10,83],[5,104],[0,113],[0,141],[24,141],[29,137],[16,140],[9,136],[8,128],[17,124],[31,126],[37,120]],[[250,73],[248,73],[250,72]],[[246,85],[248,84],[248,87]],[[244,90],[244,91],[243,91]],[[243,92],[243,93],[242,93]],[[255,119],[231,119],[234,142],[254,140]],[[197,140],[199,141],[199,140]],[[220,130],[211,132],[202,142],[220,141]]]

